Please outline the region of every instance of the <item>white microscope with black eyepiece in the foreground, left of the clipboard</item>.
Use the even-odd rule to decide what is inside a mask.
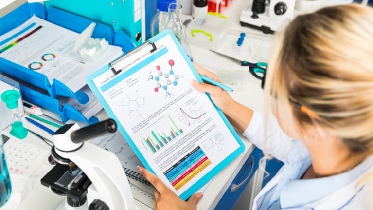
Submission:
[[[55,166],[41,184],[67,196],[56,210],[139,209],[118,157],[87,142],[116,130],[116,122],[107,119],[84,128],[67,124],[55,132],[48,158]]]

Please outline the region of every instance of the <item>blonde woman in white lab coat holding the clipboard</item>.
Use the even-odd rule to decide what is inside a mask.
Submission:
[[[280,34],[266,73],[265,104],[275,118],[263,119],[222,89],[193,81],[244,136],[285,163],[253,209],[372,208],[372,26],[373,9],[355,4],[295,18]],[[156,176],[138,170],[157,189],[157,209],[196,209],[202,194],[184,202]]]

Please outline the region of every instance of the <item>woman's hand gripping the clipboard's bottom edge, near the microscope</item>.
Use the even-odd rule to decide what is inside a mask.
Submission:
[[[138,166],[137,170],[154,186],[154,206],[156,210],[196,210],[202,193],[195,193],[187,202],[181,200],[171,189],[153,173]]]

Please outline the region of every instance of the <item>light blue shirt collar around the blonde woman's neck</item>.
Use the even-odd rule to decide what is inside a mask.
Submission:
[[[320,200],[334,191],[337,192],[339,189],[355,182],[372,166],[373,156],[348,172],[317,179],[290,180],[281,190],[281,207],[283,209],[296,208]]]

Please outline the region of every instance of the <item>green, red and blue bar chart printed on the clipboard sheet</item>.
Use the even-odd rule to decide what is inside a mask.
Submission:
[[[164,147],[174,139],[178,138],[178,136],[180,136],[183,133],[183,130],[176,125],[175,121],[172,119],[171,116],[168,116],[168,119],[171,124],[168,131],[151,131],[151,133],[146,138],[143,138],[145,145],[150,149],[152,153],[156,153],[162,147]]]

